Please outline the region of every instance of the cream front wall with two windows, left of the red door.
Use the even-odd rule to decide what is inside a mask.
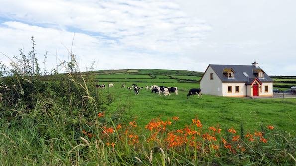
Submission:
[[[232,92],[228,92],[228,86],[232,86]],[[239,86],[239,92],[235,92],[235,86]],[[223,96],[244,97],[247,95],[245,82],[223,82]]]

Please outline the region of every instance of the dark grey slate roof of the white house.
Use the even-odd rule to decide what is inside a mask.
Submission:
[[[260,67],[255,67],[253,65],[219,65],[219,64],[210,64],[211,68],[215,71],[218,77],[222,82],[246,82],[251,83],[257,78],[261,82],[273,82],[273,80],[264,72],[264,78],[258,78],[254,75],[253,70],[261,69]],[[234,78],[228,78],[223,74],[224,68],[232,68],[234,70]],[[246,77],[243,72],[246,72],[249,75]]]

